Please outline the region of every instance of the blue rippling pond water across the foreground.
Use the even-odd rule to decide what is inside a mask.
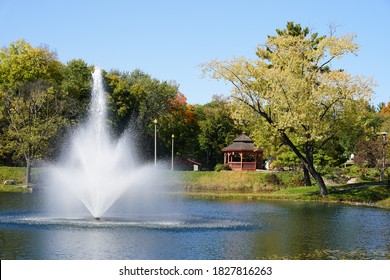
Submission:
[[[41,192],[0,193],[1,259],[389,259],[390,211],[170,197],[164,207],[48,215]]]

